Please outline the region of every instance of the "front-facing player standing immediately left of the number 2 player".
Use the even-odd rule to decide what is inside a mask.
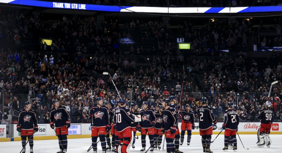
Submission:
[[[185,109],[182,110],[180,146],[182,146],[183,144],[186,130],[187,130],[187,146],[190,145],[192,130],[194,130],[194,128],[195,128],[195,116],[193,111],[190,111],[190,105],[186,104]]]

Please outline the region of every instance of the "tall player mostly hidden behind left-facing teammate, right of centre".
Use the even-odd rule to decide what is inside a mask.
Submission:
[[[177,114],[176,133],[175,133],[175,139],[174,139],[175,152],[176,153],[183,153],[182,151],[179,151],[180,133],[179,133],[179,128],[178,128],[178,119],[182,118],[181,114],[179,114],[180,106],[177,106],[177,104],[176,104],[176,97],[175,96],[169,96],[169,101],[170,101],[169,106],[174,108],[174,110],[175,110],[175,112]]]

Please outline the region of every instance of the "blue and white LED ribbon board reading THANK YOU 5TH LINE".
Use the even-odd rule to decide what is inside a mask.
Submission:
[[[65,2],[45,2],[37,0],[0,0],[0,3],[18,4],[36,7],[106,11],[106,12],[143,12],[143,13],[255,13],[282,12],[282,6],[257,7],[139,7],[139,6],[108,6]]]

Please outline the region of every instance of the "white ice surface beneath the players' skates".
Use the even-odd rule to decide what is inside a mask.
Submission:
[[[237,136],[237,143],[238,143],[238,151],[237,152],[246,152],[246,153],[268,153],[268,152],[275,152],[279,153],[282,152],[282,135],[271,135],[270,138],[272,140],[272,144],[270,148],[266,146],[264,148],[258,148],[255,143],[257,142],[256,135],[240,135],[242,142],[244,143],[245,148],[249,148],[249,150],[245,150]],[[214,140],[216,135],[213,135],[211,140]],[[99,140],[99,138],[98,138]],[[149,139],[148,136],[146,137],[146,150],[149,148]],[[83,138],[83,139],[68,139],[68,148],[67,153],[81,153],[87,152],[87,149],[91,145],[91,138]],[[163,147],[163,143],[161,144]],[[216,140],[211,143],[211,151],[214,153],[223,152],[222,148],[224,147],[224,135],[220,135],[216,138]],[[135,142],[135,150],[132,148],[130,151],[132,153],[140,152],[141,149],[141,136]],[[166,144],[164,145],[164,149],[166,148]],[[26,153],[29,153],[29,145],[27,144]],[[163,149],[163,148],[162,148]],[[166,150],[154,150],[154,153],[165,153]],[[10,141],[10,142],[0,142],[0,153],[19,153],[22,150],[21,141]],[[192,135],[191,144],[187,146],[187,136],[185,136],[184,143],[179,148],[180,151],[184,153],[198,153],[202,152],[202,144],[201,144],[201,137],[199,135]],[[59,151],[58,140],[35,140],[33,152],[34,153],[56,153]],[[93,151],[89,151],[92,153]],[[112,153],[112,151],[109,151]],[[233,150],[228,150],[228,152],[233,152]],[[98,143],[98,151],[97,153],[102,153],[101,143]],[[148,151],[150,153],[150,151]]]

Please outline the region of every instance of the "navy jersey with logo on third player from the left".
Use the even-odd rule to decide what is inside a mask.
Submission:
[[[93,106],[89,111],[89,115],[92,116],[93,127],[106,127],[106,125],[109,125],[108,107]]]

